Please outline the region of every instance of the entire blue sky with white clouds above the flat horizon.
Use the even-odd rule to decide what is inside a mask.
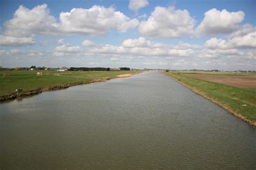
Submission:
[[[0,66],[256,70],[256,1],[0,0]]]

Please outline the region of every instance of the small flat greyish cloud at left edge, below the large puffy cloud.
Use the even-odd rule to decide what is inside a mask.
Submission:
[[[0,45],[2,46],[22,46],[33,45],[36,40],[32,37],[11,37],[0,35]]]

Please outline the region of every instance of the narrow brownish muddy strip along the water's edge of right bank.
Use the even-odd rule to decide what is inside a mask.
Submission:
[[[167,75],[167,74],[166,74],[166,75]],[[169,75],[167,75],[167,76],[169,76]],[[169,76],[169,77],[171,77],[171,76]],[[251,121],[250,119],[247,119],[246,117],[244,117],[244,116],[238,114],[237,112],[235,112],[235,111],[233,111],[232,109],[228,108],[226,105],[224,105],[224,104],[222,104],[222,103],[220,103],[220,102],[218,102],[218,101],[213,100],[212,98],[206,96],[206,95],[205,95],[204,93],[202,93],[201,91],[198,91],[197,89],[194,89],[194,88],[188,86],[187,84],[185,84],[185,83],[183,83],[183,82],[181,82],[181,81],[178,81],[178,80],[174,79],[173,77],[171,77],[171,78],[172,78],[173,80],[179,82],[179,83],[182,84],[183,86],[187,87],[188,89],[192,90],[194,93],[196,93],[196,94],[198,94],[198,95],[201,95],[201,96],[203,96],[204,98],[207,98],[208,100],[212,101],[213,103],[216,103],[216,104],[220,105],[220,107],[222,107],[222,108],[224,108],[226,111],[230,112],[230,114],[234,115],[235,117],[238,117],[238,118],[241,119],[242,121],[244,121],[244,122],[250,124],[251,126],[253,126],[254,128],[256,128],[256,122],[253,122],[253,121]]]

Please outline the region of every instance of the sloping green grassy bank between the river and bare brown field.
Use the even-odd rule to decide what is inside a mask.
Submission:
[[[256,126],[256,88],[237,88],[225,84],[184,76],[187,73],[165,73],[194,92],[223,106],[233,115]]]

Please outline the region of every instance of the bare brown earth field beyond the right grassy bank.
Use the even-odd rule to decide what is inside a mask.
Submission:
[[[256,76],[200,75],[185,74],[185,76],[226,84],[239,88],[256,88]]]

